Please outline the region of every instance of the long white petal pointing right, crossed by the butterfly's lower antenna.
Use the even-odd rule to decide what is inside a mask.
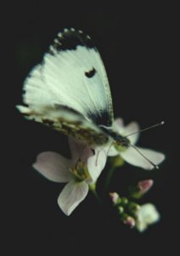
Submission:
[[[159,165],[165,159],[164,154],[156,152],[155,150],[139,147],[136,148],[155,165]],[[143,156],[139,154],[138,151],[135,148],[132,148],[131,146],[127,148],[125,151],[121,152],[121,157],[132,166],[142,167],[143,169],[146,170],[152,170],[154,168],[154,166],[152,166],[148,160],[143,158]]]

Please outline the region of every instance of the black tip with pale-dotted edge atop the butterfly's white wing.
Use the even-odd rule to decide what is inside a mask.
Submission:
[[[92,39],[82,30],[77,30],[73,27],[65,28],[54,39],[53,44],[49,48],[49,53],[54,55],[59,51],[76,49],[79,45],[87,49],[96,49]]]

